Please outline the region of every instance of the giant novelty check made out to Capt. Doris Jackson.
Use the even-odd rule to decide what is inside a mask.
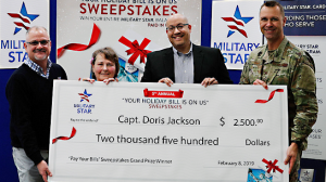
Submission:
[[[52,182],[288,181],[284,86],[54,81]]]

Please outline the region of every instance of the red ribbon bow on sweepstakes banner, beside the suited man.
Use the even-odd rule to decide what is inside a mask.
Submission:
[[[142,42],[138,43],[137,40],[135,41],[130,41],[127,38],[125,38],[124,36],[122,36],[118,41],[123,44],[125,44],[126,47],[130,48],[129,50],[127,50],[127,55],[133,54],[129,60],[128,63],[130,63],[131,65],[134,65],[134,63],[136,62],[137,57],[140,56],[140,63],[145,64],[145,57],[147,57],[147,54],[150,53],[151,51],[149,50],[145,50],[145,48],[151,42],[150,39],[145,38],[142,40]]]

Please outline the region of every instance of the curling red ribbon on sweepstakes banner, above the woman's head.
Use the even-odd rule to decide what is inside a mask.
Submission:
[[[80,43],[70,43],[70,44],[66,44],[64,47],[61,47],[61,48],[58,49],[58,58],[60,58],[62,56],[64,50],[66,50],[66,49],[72,50],[72,51],[87,50],[88,48],[93,46],[99,40],[100,34],[101,34],[100,28],[96,24],[93,24],[92,32],[91,32],[91,37],[90,37],[88,46],[87,44],[80,44]]]

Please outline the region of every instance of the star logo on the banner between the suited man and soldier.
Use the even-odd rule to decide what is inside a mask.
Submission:
[[[225,22],[227,22],[227,26],[231,29],[228,31],[227,37],[231,36],[236,30],[248,38],[244,28],[244,24],[250,22],[253,17],[242,17],[239,6],[237,5],[234,17],[222,17]]]

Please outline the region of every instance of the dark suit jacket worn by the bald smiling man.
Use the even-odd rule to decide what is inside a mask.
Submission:
[[[192,44],[193,82],[201,83],[206,77],[214,77],[218,83],[233,83],[218,49]],[[141,82],[158,82],[168,77],[175,82],[174,56],[172,47],[147,55],[147,63]]]

